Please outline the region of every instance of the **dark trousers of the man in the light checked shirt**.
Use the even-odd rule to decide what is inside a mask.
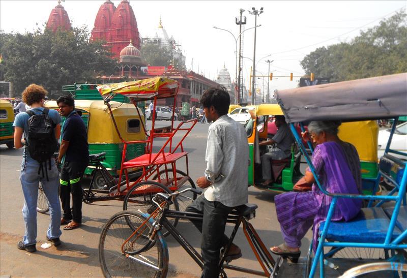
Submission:
[[[219,276],[220,249],[229,238],[224,234],[227,215],[232,207],[220,202],[211,202],[199,196],[185,211],[203,213],[203,221],[191,220],[202,233],[201,255],[203,259],[202,278]]]

